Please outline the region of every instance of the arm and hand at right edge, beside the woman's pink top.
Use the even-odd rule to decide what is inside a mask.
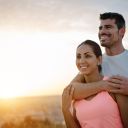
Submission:
[[[110,92],[116,93],[116,100],[124,128],[128,128],[128,78],[120,75],[112,76],[109,82],[115,89]]]

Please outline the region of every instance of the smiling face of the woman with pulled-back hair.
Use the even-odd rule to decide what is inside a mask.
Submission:
[[[76,51],[76,66],[84,75],[98,71],[99,58],[96,57],[90,45],[81,45]]]

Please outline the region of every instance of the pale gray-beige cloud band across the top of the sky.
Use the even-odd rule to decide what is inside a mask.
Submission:
[[[120,5],[120,6],[115,6]],[[104,11],[127,16],[127,1],[0,0],[0,27],[33,31],[92,31]]]

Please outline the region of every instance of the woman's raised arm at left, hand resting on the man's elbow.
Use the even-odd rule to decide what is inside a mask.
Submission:
[[[62,112],[67,128],[80,128],[79,124],[76,122],[75,118],[70,112],[73,92],[73,88],[71,91],[69,87],[64,89],[62,94]]]

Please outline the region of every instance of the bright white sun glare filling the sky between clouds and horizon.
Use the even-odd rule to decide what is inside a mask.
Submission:
[[[85,32],[0,31],[0,34],[0,98],[4,99],[60,94],[76,74],[77,45],[85,37],[94,38],[94,34]]]

